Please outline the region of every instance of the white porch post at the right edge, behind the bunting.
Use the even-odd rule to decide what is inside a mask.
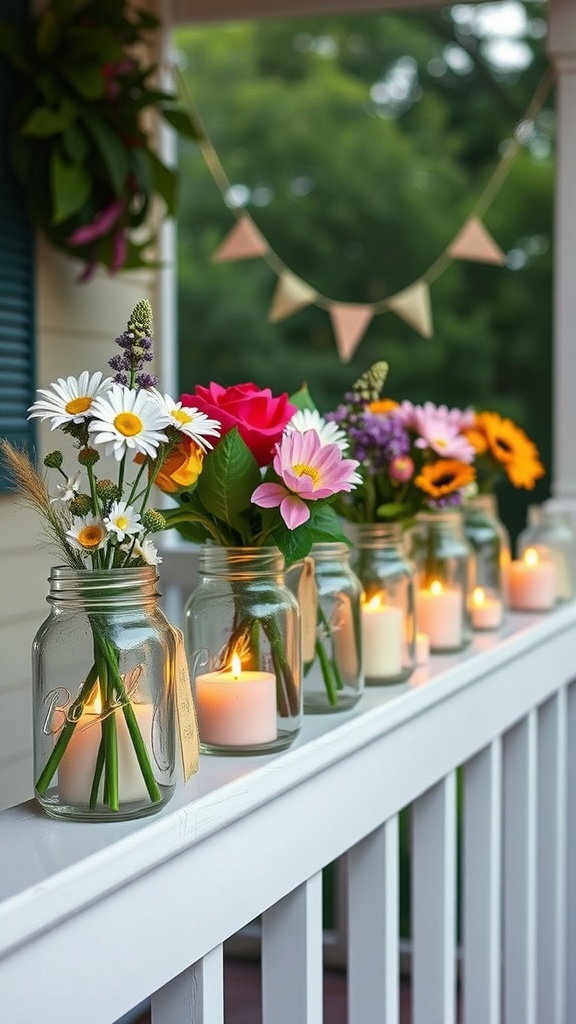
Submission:
[[[553,311],[553,504],[576,522],[576,3],[549,0],[547,49],[557,77]]]

